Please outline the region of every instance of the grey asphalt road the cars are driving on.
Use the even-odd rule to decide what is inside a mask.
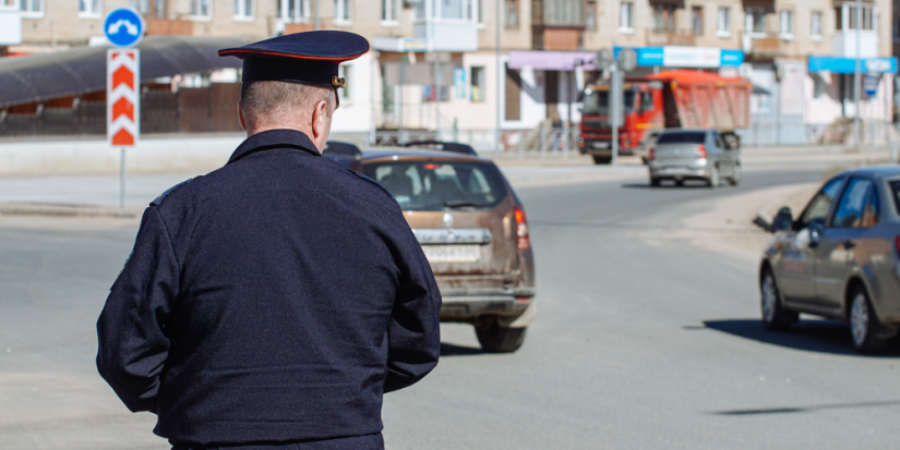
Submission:
[[[748,170],[717,191],[644,178],[518,190],[539,279],[525,345],[483,354],[470,327],[442,327],[434,373],[385,397],[387,448],[896,448],[898,345],[859,356],[847,328],[823,320],[765,331],[756,267],[680,230],[698,200],[823,172]],[[135,229],[0,218],[0,448],[167,448],[93,362]]]

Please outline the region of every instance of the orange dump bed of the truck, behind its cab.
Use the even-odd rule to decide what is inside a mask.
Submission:
[[[662,82],[665,127],[733,131],[748,127],[753,85],[707,72],[663,71],[646,80]]]

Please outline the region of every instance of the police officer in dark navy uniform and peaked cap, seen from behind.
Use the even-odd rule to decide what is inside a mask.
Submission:
[[[310,32],[243,59],[228,163],[160,195],[97,323],[97,367],[176,449],[382,449],[382,396],[437,364],[440,293],[397,203],[323,158],[338,64]]]

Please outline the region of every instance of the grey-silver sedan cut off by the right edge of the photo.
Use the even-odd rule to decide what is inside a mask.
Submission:
[[[831,177],[800,217],[782,208],[759,266],[763,323],[799,313],[848,320],[859,352],[883,350],[900,326],[900,166]]]

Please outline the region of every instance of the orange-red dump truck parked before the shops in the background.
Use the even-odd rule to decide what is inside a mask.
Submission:
[[[640,155],[664,129],[715,129],[737,145],[734,131],[749,126],[753,85],[744,78],[672,70],[625,78],[623,89],[620,155]],[[608,108],[609,85],[585,88],[578,150],[598,165],[612,160]]]

